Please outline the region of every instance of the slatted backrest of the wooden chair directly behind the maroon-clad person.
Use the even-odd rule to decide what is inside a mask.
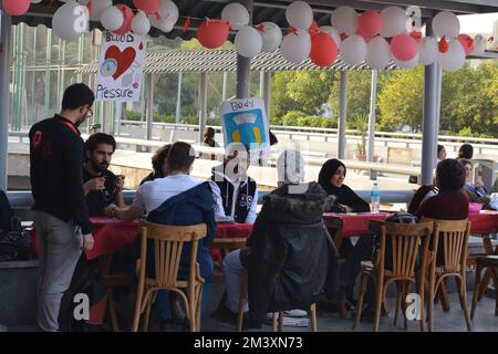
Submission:
[[[434,222],[434,233],[430,249],[438,254],[438,249],[443,247],[445,272],[459,273],[465,271],[467,261],[468,237],[470,222],[463,220],[440,220],[423,217],[422,221]]]

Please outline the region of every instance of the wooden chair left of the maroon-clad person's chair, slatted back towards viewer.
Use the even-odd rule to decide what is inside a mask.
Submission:
[[[394,325],[397,323],[400,315],[400,306],[403,304],[406,310],[405,299],[408,294],[409,283],[416,284],[416,262],[419,254],[419,247],[423,246],[422,261],[419,269],[419,296],[421,303],[424,303],[425,289],[425,269],[428,263],[428,247],[433,231],[433,223],[394,223],[385,221],[371,221],[372,229],[380,229],[381,244],[373,262],[362,262],[362,274],[360,281],[360,295],[357,301],[356,319],[353,330],[360,323],[362,316],[363,298],[366,292],[369,278],[375,281],[375,319],[374,331],[378,332],[381,323],[382,303],[385,301],[386,290],[390,284],[395,283],[397,287],[396,312],[394,316]],[[392,269],[386,269],[386,243],[390,239],[392,244]],[[424,306],[421,309],[421,330],[424,331],[425,313]],[[408,322],[405,315],[405,330]]]

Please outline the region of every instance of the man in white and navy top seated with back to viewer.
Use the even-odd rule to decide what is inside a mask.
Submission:
[[[176,142],[169,149],[167,157],[167,177],[156,178],[142,185],[135,194],[133,205],[125,209],[110,206],[107,216],[118,217],[123,220],[138,218],[144,210],[147,221],[162,225],[189,226],[207,225],[206,238],[199,240],[197,262],[200,275],[205,279],[201,309],[206,309],[212,283],[212,259],[207,246],[216,236],[216,222],[212,192],[209,183],[203,183],[190,177],[189,173],[195,159],[193,147],[184,142]],[[147,247],[147,274],[154,269],[153,247]],[[185,244],[181,252],[179,278],[187,279],[190,247]],[[159,291],[157,296],[160,326],[166,330],[173,325],[169,308],[169,294]]]

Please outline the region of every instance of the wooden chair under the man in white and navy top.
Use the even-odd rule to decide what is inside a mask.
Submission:
[[[133,332],[138,330],[141,314],[144,312],[143,330],[148,329],[151,306],[159,290],[178,293],[184,301],[187,317],[190,320],[190,331],[200,330],[200,298],[204,279],[200,277],[196,259],[198,242],[206,237],[206,230],[205,223],[180,227],[142,221],[142,254]],[[148,240],[154,241],[154,278],[146,277]],[[185,242],[191,243],[189,274],[188,280],[178,280],[179,262]]]

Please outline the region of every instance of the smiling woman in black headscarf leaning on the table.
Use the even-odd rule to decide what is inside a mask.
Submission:
[[[335,197],[332,212],[365,212],[370,211],[370,205],[360,198],[353,189],[344,185],[346,168],[336,158],[323,164],[319,174],[319,184],[329,196]]]

